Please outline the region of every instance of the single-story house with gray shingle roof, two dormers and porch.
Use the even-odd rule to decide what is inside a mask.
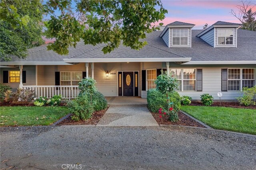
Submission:
[[[68,55],[47,51],[46,45],[28,49],[28,57],[1,62],[0,83],[12,88],[36,89],[37,96],[62,94],[74,98],[78,81],[93,77],[105,96],[140,96],[155,88],[161,69],[180,82],[177,91],[200,99],[209,93],[232,100],[242,87],[256,83],[256,32],[238,29],[240,24],[218,21],[206,30],[194,24],[173,22],[146,34],[148,45],[139,51],[120,45],[104,54],[104,44],[69,49]]]

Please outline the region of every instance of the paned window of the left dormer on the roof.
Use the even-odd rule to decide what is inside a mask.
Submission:
[[[188,45],[188,29],[172,29],[172,45]]]

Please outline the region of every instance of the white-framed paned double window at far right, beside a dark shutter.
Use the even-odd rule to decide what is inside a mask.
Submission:
[[[222,71],[225,69],[222,69]],[[223,80],[223,76],[222,76]],[[225,83],[225,81],[223,81]],[[230,68],[228,69],[228,91],[240,91],[242,87],[254,87],[255,69]],[[224,85],[225,86],[225,85]]]

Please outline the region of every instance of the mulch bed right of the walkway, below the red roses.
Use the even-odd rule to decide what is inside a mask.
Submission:
[[[156,119],[156,122],[159,125],[179,125],[179,126],[190,126],[190,127],[203,127],[200,123],[194,121],[190,117],[184,115],[183,113],[179,112],[179,121],[177,122],[171,122],[168,120],[168,117],[159,117],[159,113],[151,113],[153,117]]]

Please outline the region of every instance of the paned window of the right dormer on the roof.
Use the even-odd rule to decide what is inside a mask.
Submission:
[[[234,29],[218,28],[218,45],[233,45]]]

